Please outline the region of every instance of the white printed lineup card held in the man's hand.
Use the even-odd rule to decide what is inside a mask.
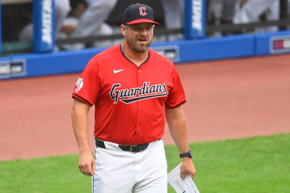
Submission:
[[[180,166],[181,163],[167,175],[169,184],[177,193],[199,193],[190,176],[186,174],[184,180],[180,177]]]

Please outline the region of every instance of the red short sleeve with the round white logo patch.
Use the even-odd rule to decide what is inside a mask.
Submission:
[[[76,82],[72,92],[72,98],[77,98],[89,106],[93,106],[98,99],[101,74],[99,65],[95,58],[92,58]]]

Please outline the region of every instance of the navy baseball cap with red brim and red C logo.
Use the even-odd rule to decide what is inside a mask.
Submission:
[[[133,4],[130,5],[123,14],[123,25],[137,24],[137,23],[153,23],[159,24],[153,21],[153,9],[148,5]]]

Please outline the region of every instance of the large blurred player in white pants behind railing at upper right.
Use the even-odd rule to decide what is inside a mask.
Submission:
[[[280,0],[239,0],[235,5],[234,24],[261,21],[265,16],[267,21],[279,20]],[[277,31],[277,26],[256,27],[256,32]]]

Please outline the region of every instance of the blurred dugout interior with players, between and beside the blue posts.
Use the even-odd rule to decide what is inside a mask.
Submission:
[[[56,50],[121,43],[124,10],[150,5],[153,41],[182,40],[184,0],[56,0]],[[32,52],[33,0],[2,0],[2,55]],[[290,0],[207,0],[207,36],[262,33],[290,28]]]

